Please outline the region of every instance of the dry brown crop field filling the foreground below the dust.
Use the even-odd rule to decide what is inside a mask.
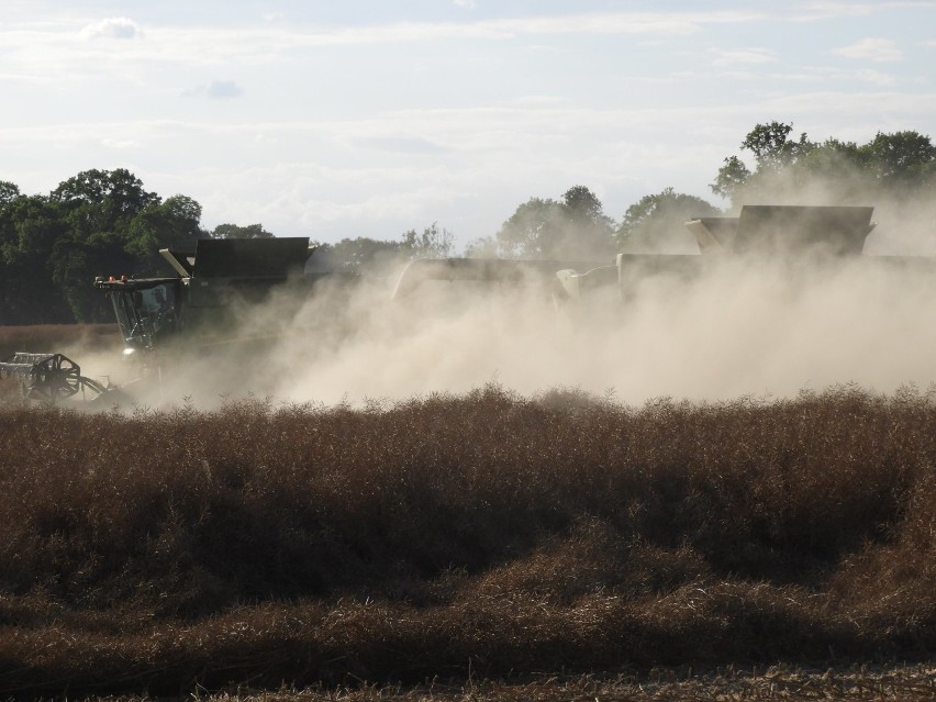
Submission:
[[[913,389],[7,401],[0,694],[932,698],[934,466]]]

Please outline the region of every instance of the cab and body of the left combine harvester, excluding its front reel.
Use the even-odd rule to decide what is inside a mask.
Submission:
[[[305,237],[200,239],[194,252],[159,252],[174,277],[97,278],[94,288],[113,304],[124,358],[137,369],[122,389],[158,397],[164,366],[172,371],[207,358],[222,367],[230,360],[226,372],[246,379],[250,364],[256,370],[274,344],[298,333],[291,322],[326,281],[330,292],[346,293],[359,279],[307,271],[314,248]],[[332,300],[333,317],[341,301]]]

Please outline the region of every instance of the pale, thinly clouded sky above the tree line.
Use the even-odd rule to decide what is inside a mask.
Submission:
[[[202,225],[319,242],[531,198],[620,221],[758,123],[936,138],[936,1],[0,0],[0,180],[127,168]],[[870,203],[873,204],[873,203]]]

